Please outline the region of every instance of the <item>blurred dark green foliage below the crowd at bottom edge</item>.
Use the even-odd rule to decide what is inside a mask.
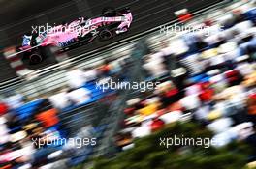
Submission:
[[[99,158],[94,169],[241,169],[248,148],[231,143],[221,149],[193,146],[160,146],[160,138],[176,136],[211,138],[212,133],[194,123],[171,124],[150,136],[135,140],[135,147],[115,158]]]

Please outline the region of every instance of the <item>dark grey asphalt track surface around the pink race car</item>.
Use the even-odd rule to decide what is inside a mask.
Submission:
[[[35,25],[45,25],[46,23],[53,25],[54,23],[59,24],[62,21],[69,22],[78,18],[79,16],[96,17],[101,14],[102,9],[105,7],[129,7],[131,9],[134,16],[134,21],[129,32],[114,37],[112,40],[107,42],[100,42],[96,39],[94,42],[69,51],[68,54],[70,57],[74,57],[97,48],[102,48],[108,44],[111,44],[112,42],[118,42],[133,35],[143,33],[150,28],[170,22],[176,19],[174,12],[183,8],[188,9],[190,12],[195,12],[216,2],[220,2],[220,0],[22,1],[26,1],[26,3],[22,5],[11,3],[9,6],[4,6],[0,13],[0,19],[3,20],[1,21],[0,25],[1,49],[9,45],[20,45],[22,35],[25,32],[32,31],[32,26]],[[30,4],[28,1],[30,1]],[[14,11],[9,10],[10,8],[14,9]],[[49,64],[50,60],[47,60],[40,65],[31,67],[31,69],[35,70],[46,67]],[[4,65],[1,65],[1,67],[3,66]],[[8,67],[8,65],[6,65],[6,67]],[[0,71],[0,81],[15,77],[13,72],[9,75],[5,75],[4,73],[6,72]]]

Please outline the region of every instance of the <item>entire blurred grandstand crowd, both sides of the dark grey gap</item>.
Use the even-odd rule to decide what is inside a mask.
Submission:
[[[208,28],[180,32],[162,42],[158,50],[142,41],[131,57],[83,70],[72,67],[66,74],[67,83],[41,99],[27,102],[20,94],[1,99],[0,168],[50,168],[48,163],[77,155],[79,149],[68,144],[69,137],[92,138],[99,128],[87,124],[71,133],[59,115],[115,95],[96,85],[110,78],[159,82],[154,90],[133,91],[137,97],[127,100],[125,119],[114,138],[120,150],[131,148],[134,139],[166,124],[191,120],[214,133],[220,140],[216,147],[244,140],[255,150],[249,160],[255,160],[255,10],[246,4],[197,22]],[[68,141],[48,144],[60,138]]]

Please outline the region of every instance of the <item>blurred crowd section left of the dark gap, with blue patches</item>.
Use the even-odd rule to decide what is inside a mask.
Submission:
[[[112,101],[114,91],[102,91],[96,84],[110,76],[123,78],[125,66],[122,65],[125,61],[118,60],[105,61],[95,68],[71,67],[66,84],[28,102],[25,96],[10,91],[0,103],[0,168],[51,168],[55,161],[67,158],[70,158],[70,162],[65,162],[68,166],[82,162],[85,157],[74,159],[73,156],[92,153],[90,146],[96,146],[95,135],[102,127],[88,122],[74,132],[69,129],[73,123],[64,124],[67,120],[63,119],[74,116],[70,121],[78,121],[76,118],[83,116],[69,114],[71,110],[104,99]],[[74,138],[77,138],[75,142]],[[86,147],[82,153],[81,147]]]

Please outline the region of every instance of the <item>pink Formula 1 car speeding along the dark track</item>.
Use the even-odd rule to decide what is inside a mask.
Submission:
[[[71,23],[57,26],[35,27],[29,35],[23,36],[22,46],[24,57],[28,57],[30,64],[38,64],[44,60],[44,48],[58,46],[60,51],[66,51],[99,38],[110,40],[115,35],[127,32],[133,16],[128,8],[115,10],[106,8],[102,16],[86,19],[80,17]]]

